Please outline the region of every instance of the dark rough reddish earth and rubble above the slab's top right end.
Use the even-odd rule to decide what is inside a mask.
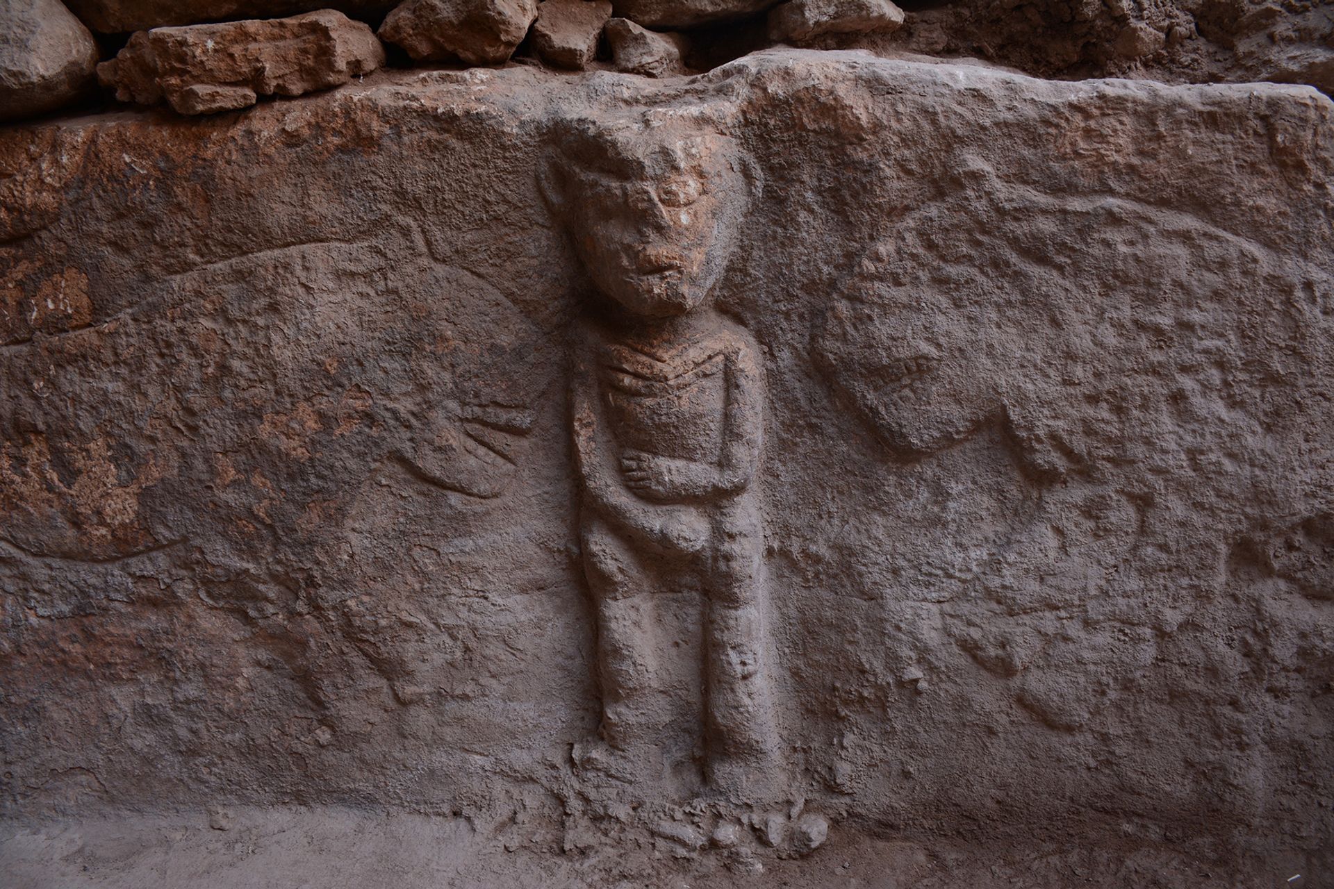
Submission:
[[[1325,0],[951,0],[910,12],[895,44],[1042,76],[1271,80],[1334,92],[1334,4]]]

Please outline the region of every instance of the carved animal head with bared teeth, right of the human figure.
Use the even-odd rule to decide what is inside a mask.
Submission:
[[[1000,413],[1003,333],[984,304],[951,299],[910,253],[867,253],[824,317],[816,359],[886,444],[920,456]]]

